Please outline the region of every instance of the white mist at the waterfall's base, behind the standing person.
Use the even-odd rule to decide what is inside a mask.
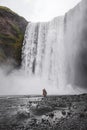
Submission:
[[[73,89],[69,84],[58,88],[47,81],[45,77],[28,76],[23,70],[16,70],[8,74],[9,69],[0,68],[0,95],[42,95],[42,89],[47,90],[48,95],[81,94],[84,89]]]

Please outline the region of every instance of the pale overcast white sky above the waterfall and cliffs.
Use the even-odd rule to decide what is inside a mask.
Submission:
[[[49,21],[64,15],[81,0],[0,0],[1,6],[7,6],[26,20],[32,22]]]

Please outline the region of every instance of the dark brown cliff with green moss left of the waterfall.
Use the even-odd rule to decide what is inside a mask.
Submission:
[[[21,64],[21,48],[27,21],[0,6],[0,64]]]

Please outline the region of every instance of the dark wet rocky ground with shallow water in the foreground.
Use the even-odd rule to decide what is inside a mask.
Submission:
[[[0,130],[87,130],[87,94],[1,97]]]

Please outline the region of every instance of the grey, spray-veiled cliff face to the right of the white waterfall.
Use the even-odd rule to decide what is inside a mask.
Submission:
[[[68,81],[87,86],[87,0],[81,1],[65,15]]]

